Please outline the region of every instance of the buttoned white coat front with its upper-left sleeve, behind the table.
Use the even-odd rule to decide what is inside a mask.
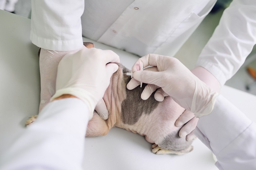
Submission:
[[[68,51],[81,48],[82,31],[84,37],[140,56],[164,48],[167,42],[174,54],[215,2],[32,0],[30,38],[39,47]]]

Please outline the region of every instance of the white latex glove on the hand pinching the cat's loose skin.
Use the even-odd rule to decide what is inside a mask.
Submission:
[[[84,48],[66,54],[59,62],[56,93],[51,101],[63,94],[71,94],[88,104],[90,114],[102,99],[112,74],[117,71],[119,56],[111,50]]]

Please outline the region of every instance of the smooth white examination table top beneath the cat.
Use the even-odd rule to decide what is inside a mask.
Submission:
[[[30,20],[0,10],[0,157],[9,143],[25,129],[29,116],[38,113],[40,72],[38,47],[29,40]],[[94,42],[96,48],[111,49],[131,68],[138,56]],[[224,86],[222,95],[256,122],[256,96]],[[182,156],[156,155],[143,136],[114,127],[106,136],[85,140],[84,169],[151,170],[217,169],[210,150],[196,139],[194,150]]]

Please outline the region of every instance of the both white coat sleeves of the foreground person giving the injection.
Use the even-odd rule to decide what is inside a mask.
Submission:
[[[82,169],[87,124],[88,107],[81,100],[49,103],[7,148],[0,169]],[[219,169],[256,169],[256,125],[224,97],[199,119],[195,134],[216,155]]]

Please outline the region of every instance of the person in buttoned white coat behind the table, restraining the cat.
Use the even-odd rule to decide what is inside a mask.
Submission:
[[[82,36],[143,56],[174,56],[216,0],[32,0],[30,39],[41,47],[41,110],[55,93],[57,65],[83,46]],[[256,1],[233,0],[198,58],[192,73],[216,91],[244,63],[256,43]],[[189,56],[187,56],[189,58]],[[157,96],[158,95],[158,96]],[[156,93],[156,99],[162,99]],[[95,110],[106,120],[101,99]],[[198,119],[186,110],[180,137],[194,138]]]

